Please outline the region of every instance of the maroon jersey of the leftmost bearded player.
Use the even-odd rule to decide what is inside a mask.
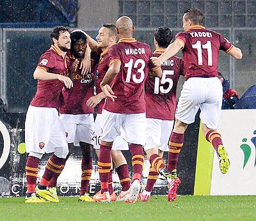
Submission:
[[[68,76],[68,57],[65,56],[63,59],[60,51],[52,45],[49,50],[42,54],[36,68],[42,68],[49,73]],[[30,104],[35,107],[60,107],[63,86],[63,82],[58,79],[38,80],[36,94]]]

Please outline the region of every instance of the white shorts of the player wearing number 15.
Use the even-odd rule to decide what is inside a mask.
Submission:
[[[146,145],[144,150],[158,148],[169,151],[168,142],[173,129],[174,121],[147,118]]]

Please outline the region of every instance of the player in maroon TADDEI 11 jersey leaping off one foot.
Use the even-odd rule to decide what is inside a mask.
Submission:
[[[185,82],[180,94],[175,125],[169,142],[168,165],[161,173],[169,178],[170,189],[168,200],[174,201],[177,197],[177,187],[180,180],[177,178],[177,162],[180,149],[184,141],[184,132],[190,123],[195,121],[195,114],[201,110],[202,132],[207,141],[220,157],[220,171],[228,171],[229,160],[227,151],[221,141],[220,133],[216,132],[220,118],[222,87],[218,79],[218,54],[224,50],[236,59],[241,59],[241,50],[232,45],[226,38],[215,31],[202,26],[204,15],[197,8],[185,11],[183,15],[184,32],[176,35],[173,42],[159,57],[152,57],[155,65],[166,61],[182,50],[184,56]]]

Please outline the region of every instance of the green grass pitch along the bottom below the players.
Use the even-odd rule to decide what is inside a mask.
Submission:
[[[60,197],[60,203],[25,204],[24,197],[0,198],[0,220],[256,220],[256,196],[150,197],[149,202],[78,202]]]

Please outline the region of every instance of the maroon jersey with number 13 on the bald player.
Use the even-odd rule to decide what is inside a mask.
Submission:
[[[146,43],[137,42],[134,38],[121,38],[109,50],[110,63],[121,62],[120,72],[110,86],[115,93],[115,102],[107,98],[104,109],[121,114],[146,112],[144,83],[148,70],[156,70],[150,61],[152,50]]]

